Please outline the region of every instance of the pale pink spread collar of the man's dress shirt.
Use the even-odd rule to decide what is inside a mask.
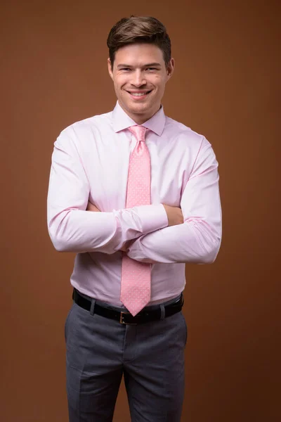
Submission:
[[[166,117],[164,115],[164,108],[161,106],[157,113],[150,117],[150,119],[144,122],[141,126],[147,127],[148,129],[152,130],[152,132],[155,132],[155,134],[160,136],[164,130],[165,122]],[[134,126],[135,124],[137,123],[134,122],[133,119],[131,119],[131,117],[125,113],[117,101],[117,104],[112,111],[112,126],[115,132],[128,129],[128,127]]]

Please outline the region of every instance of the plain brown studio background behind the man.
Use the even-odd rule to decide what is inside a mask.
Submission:
[[[207,136],[220,163],[221,252],[211,266],[187,268],[182,420],[280,420],[278,1],[141,5],[1,3],[3,422],[67,421],[63,326],[74,255],[48,238],[51,153],[67,125],[115,106],[105,41],[132,13],[169,30],[176,72],[165,112]],[[117,421],[129,422],[124,388]]]

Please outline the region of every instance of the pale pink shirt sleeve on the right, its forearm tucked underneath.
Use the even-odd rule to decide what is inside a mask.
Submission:
[[[140,262],[214,262],[221,245],[221,200],[218,162],[203,139],[181,197],[184,222],[134,241],[127,255]]]

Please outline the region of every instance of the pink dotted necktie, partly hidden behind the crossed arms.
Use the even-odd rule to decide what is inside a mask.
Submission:
[[[130,156],[126,208],[150,205],[150,153],[145,144],[146,128],[132,126],[137,144]],[[151,265],[122,257],[120,300],[133,316],[150,302]]]

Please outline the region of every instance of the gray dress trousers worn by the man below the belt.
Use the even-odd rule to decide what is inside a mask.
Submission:
[[[187,328],[181,312],[123,325],[72,305],[65,322],[70,422],[112,421],[124,376],[133,422],[180,422]]]

